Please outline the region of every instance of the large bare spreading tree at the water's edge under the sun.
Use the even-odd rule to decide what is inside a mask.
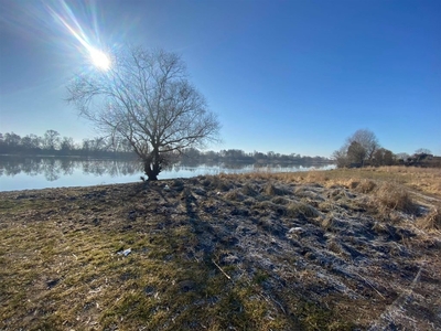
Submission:
[[[67,90],[80,116],[130,142],[149,180],[168,153],[217,139],[219,121],[174,53],[131,47],[114,56],[109,71],[77,75]]]

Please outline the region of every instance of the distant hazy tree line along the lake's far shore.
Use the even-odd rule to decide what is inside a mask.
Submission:
[[[14,156],[75,156],[94,158],[136,158],[128,140],[96,137],[83,139],[80,143],[73,138],[62,137],[55,130],[47,130],[43,137],[28,135],[20,137],[14,132],[0,134],[0,154]],[[281,154],[273,151],[267,153],[245,152],[240,149],[220,151],[201,151],[186,148],[168,154],[171,164],[197,163],[243,163],[243,164],[327,164],[332,161],[323,157],[308,157],[298,153]]]

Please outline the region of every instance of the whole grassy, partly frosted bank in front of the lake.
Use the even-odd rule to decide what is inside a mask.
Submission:
[[[440,330],[440,205],[398,167],[1,192],[0,329]]]

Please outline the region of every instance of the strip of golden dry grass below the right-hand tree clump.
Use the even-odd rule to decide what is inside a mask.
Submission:
[[[417,203],[413,192],[429,194],[435,199],[441,197],[441,169],[380,167],[293,173],[256,172],[244,175],[228,175],[228,179],[234,180],[238,177],[267,180],[268,184],[263,188],[263,192],[270,196],[282,194],[280,189],[273,184],[277,181],[295,184],[314,183],[332,189],[330,197],[334,201],[343,199],[352,203],[351,194],[348,195],[347,191],[342,190],[343,186],[356,193],[367,194],[370,199],[370,206],[377,209],[379,215],[387,218],[394,218],[396,216],[395,211],[416,213]],[[300,194],[299,190],[302,189],[298,189],[295,192]],[[427,220],[426,223],[435,223],[435,220],[438,220],[435,212],[431,212],[430,215],[423,217]]]

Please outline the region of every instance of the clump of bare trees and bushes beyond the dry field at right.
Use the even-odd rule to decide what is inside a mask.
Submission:
[[[381,147],[375,134],[367,129],[357,130],[332,154],[337,168],[362,168],[380,166],[441,167],[441,158],[429,149],[420,148],[412,156]]]

